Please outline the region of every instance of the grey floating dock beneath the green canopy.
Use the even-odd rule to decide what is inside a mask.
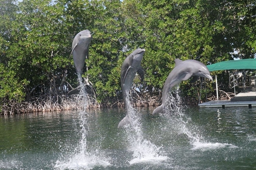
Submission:
[[[256,107],[256,87],[246,87],[244,91],[230,100],[208,101],[198,105],[199,107]]]

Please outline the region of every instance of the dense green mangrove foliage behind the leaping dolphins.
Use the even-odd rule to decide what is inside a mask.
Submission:
[[[99,102],[122,99],[120,67],[138,47],[146,49],[145,79],[136,87],[158,95],[176,58],[208,65],[255,57],[255,8],[252,0],[0,0],[0,98],[65,95],[68,83],[76,87],[69,55],[74,36],[86,29],[94,34],[83,77]],[[227,86],[226,72],[217,75]],[[199,86],[183,82],[181,89],[196,101]]]

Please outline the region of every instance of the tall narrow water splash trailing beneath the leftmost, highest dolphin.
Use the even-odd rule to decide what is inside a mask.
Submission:
[[[64,158],[63,161],[57,160],[54,165],[55,168],[60,170],[72,169],[72,170],[90,170],[95,166],[110,166],[109,160],[105,158],[104,152],[100,152],[98,148],[94,149],[94,151],[88,152],[87,146],[87,135],[88,135],[88,113],[86,112],[86,108],[88,105],[87,93],[84,87],[84,83],[82,82],[82,77],[78,74],[78,81],[80,83],[80,94],[77,96],[77,104],[79,114],[79,125],[81,128],[81,140],[80,144],[77,148],[74,149],[74,153],[67,153],[68,158]],[[93,150],[93,149],[91,149]]]

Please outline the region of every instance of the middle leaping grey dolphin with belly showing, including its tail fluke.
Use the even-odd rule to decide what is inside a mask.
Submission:
[[[124,59],[121,67],[121,87],[126,111],[128,110],[127,100],[129,100],[129,91],[132,87],[133,79],[136,73],[140,75],[142,81],[144,79],[144,71],[140,66],[144,53],[145,49],[138,48],[134,50],[128,57],[126,57],[126,59]],[[118,124],[118,128],[128,123],[129,118],[126,115],[126,117],[124,117],[124,119],[122,119],[122,121],[120,121]]]

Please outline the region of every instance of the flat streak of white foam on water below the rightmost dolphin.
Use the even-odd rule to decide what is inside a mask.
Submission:
[[[220,148],[237,148],[237,146],[228,143],[207,143],[207,142],[194,142],[194,147],[191,150],[208,150],[208,149],[220,149]]]

